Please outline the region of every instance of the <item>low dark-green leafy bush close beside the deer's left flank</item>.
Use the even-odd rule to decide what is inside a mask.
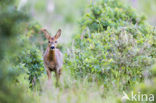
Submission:
[[[37,48],[31,48],[22,51],[18,59],[20,64],[24,64],[25,72],[29,75],[30,87],[32,88],[44,72],[42,55]],[[19,69],[23,69],[23,67]]]

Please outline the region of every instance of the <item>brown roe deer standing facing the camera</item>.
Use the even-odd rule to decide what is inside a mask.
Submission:
[[[51,37],[46,29],[41,29],[44,33],[46,39],[48,40],[48,47],[44,53],[44,66],[47,71],[48,80],[51,81],[51,72],[54,71],[56,75],[56,84],[58,85],[58,81],[62,71],[63,65],[63,55],[57,46],[57,39],[61,36],[61,29],[59,29],[55,36]]]

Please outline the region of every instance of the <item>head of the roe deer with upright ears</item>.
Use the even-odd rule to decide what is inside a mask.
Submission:
[[[57,46],[57,39],[61,36],[61,29],[59,29],[55,36],[50,36],[49,32],[46,29],[41,29],[44,33],[46,39],[48,40],[48,47],[50,50],[55,50]]]

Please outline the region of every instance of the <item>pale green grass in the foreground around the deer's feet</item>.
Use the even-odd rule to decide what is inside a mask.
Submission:
[[[55,75],[52,73],[52,84],[47,82],[47,75],[43,74],[40,78],[41,90],[36,88],[29,89],[29,83],[22,79],[26,75],[21,75],[21,86],[25,92],[33,96],[37,103],[116,103],[116,97],[120,93],[115,88],[108,90],[103,85],[98,85],[96,81],[89,82],[88,78],[75,79],[67,70],[63,71],[60,79],[60,86],[55,86]]]

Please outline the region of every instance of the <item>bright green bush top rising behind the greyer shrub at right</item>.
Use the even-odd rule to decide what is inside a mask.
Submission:
[[[102,0],[90,5],[82,22],[82,30],[86,27],[94,32],[102,32],[110,28],[120,28],[127,25],[144,24],[145,17],[139,16],[130,6],[124,5],[120,0]]]

